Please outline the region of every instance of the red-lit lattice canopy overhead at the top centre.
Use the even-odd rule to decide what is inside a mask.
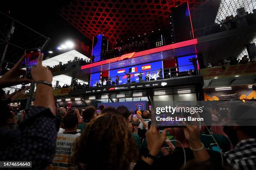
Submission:
[[[104,34],[111,42],[148,34],[169,25],[171,8],[204,0],[72,0],[60,15],[91,40]]]

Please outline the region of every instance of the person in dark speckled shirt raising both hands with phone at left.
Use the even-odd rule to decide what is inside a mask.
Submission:
[[[0,78],[1,87],[31,82],[26,76],[19,78],[19,75],[25,71],[20,70],[23,60],[24,57]],[[37,82],[34,107],[23,122],[20,122],[19,137],[0,150],[2,161],[32,161],[32,167],[36,170],[44,169],[51,163],[56,149],[57,128],[59,128],[55,124],[56,106],[51,87],[52,74],[48,68],[42,66],[42,60],[43,54],[40,54],[37,66],[31,70],[33,80]],[[8,112],[10,111],[3,110],[2,114]]]

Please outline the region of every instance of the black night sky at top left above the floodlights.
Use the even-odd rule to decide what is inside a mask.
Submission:
[[[71,0],[4,0],[0,2],[0,10],[36,30],[37,32],[51,38],[46,50],[54,50],[65,40],[79,39],[85,44],[92,46],[88,40],[76,28],[67,23],[60,15],[58,9],[66,6]],[[38,22],[39,21],[39,22]]]

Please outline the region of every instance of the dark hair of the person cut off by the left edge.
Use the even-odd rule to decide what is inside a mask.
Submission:
[[[5,125],[8,125],[7,120],[10,118],[13,118],[13,114],[10,112],[9,107],[3,102],[3,100],[0,100],[0,127],[3,127]]]

